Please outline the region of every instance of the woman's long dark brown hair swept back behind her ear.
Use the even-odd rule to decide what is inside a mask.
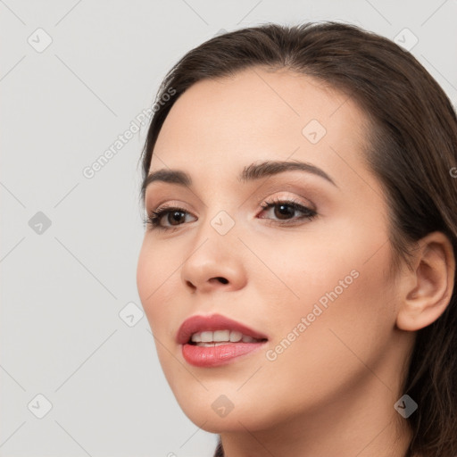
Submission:
[[[338,22],[288,27],[265,24],[206,41],[167,74],[157,99],[176,94],[154,112],[142,154],[147,177],[156,139],[170,108],[195,82],[253,66],[320,79],[346,94],[370,120],[365,157],[391,208],[395,266],[411,246],[438,230],[457,257],[457,120],[445,92],[410,53],[385,37]],[[144,187],[141,195],[144,197]],[[395,269],[394,269],[395,270]],[[409,418],[408,455],[457,453],[457,292],[446,311],[417,332],[404,393],[419,408]],[[217,455],[223,455],[218,446]]]

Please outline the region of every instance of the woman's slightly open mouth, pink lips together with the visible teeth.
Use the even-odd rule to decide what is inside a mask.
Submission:
[[[268,341],[262,333],[220,314],[193,316],[179,328],[184,359],[196,367],[216,367],[256,352]]]

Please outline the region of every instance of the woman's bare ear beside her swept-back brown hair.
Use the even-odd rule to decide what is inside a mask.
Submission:
[[[455,257],[453,245],[441,232],[418,242],[411,270],[401,273],[400,303],[396,325],[415,331],[438,319],[453,295]]]

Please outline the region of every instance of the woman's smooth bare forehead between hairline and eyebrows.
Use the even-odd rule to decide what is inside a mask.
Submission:
[[[312,162],[338,175],[362,170],[366,116],[344,94],[291,71],[253,68],[195,83],[164,121],[150,170],[237,174],[259,160]]]

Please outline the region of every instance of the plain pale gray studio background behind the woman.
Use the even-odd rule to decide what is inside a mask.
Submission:
[[[92,179],[82,170],[220,29],[337,20],[417,37],[411,53],[455,105],[457,1],[5,0],[0,14],[0,455],[210,456],[137,295],[146,125]]]

